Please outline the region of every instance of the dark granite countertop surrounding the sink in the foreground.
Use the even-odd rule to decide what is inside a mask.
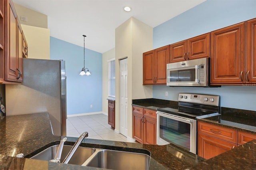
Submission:
[[[138,104],[139,103],[137,103],[137,105]],[[151,103],[148,106],[156,105],[152,105]],[[170,105],[168,106],[170,107]],[[147,105],[143,107],[147,107]],[[210,122],[207,119],[200,121]],[[211,123],[214,123],[214,121],[211,121]],[[49,146],[59,144],[63,137],[64,136],[54,136],[52,134],[48,113],[6,116],[4,119],[0,119],[0,169],[100,169],[28,159],[32,154],[38,153]],[[73,145],[76,139],[77,138],[68,137],[65,144]],[[237,168],[249,170],[256,167],[256,140],[252,140],[251,142],[238,146],[209,160],[205,160],[200,156],[172,144],[158,146],[85,138],[81,146],[126,150],[130,152],[148,150],[151,153],[150,170]],[[24,153],[25,158],[13,157],[18,153]]]

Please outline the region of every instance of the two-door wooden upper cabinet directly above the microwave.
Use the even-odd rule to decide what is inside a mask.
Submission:
[[[170,45],[170,63],[210,57],[210,33]]]

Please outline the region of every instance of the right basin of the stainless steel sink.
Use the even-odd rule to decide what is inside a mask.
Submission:
[[[97,150],[83,166],[112,170],[148,170],[150,156],[118,150]]]

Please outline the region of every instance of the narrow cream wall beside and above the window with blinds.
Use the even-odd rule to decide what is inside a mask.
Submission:
[[[102,54],[102,112],[108,113],[108,60],[115,58],[116,49],[112,48]]]

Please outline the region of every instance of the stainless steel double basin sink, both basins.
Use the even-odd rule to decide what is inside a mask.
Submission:
[[[55,157],[58,146],[59,145],[50,146],[42,152],[32,156],[31,159],[47,161],[52,160]],[[72,146],[70,145],[63,146],[60,162],[64,160],[71,148]],[[68,164],[113,170],[148,170],[149,162],[149,151],[148,154],[144,154],[138,152],[127,152],[122,150],[109,150],[79,146]]]

